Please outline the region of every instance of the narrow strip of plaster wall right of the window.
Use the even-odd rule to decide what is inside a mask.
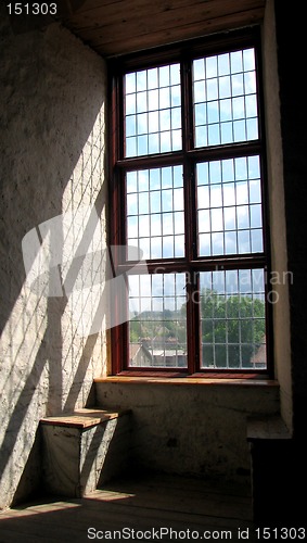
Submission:
[[[280,383],[281,414],[292,429],[292,377],[290,345],[289,280],[293,276],[287,265],[284,211],[283,157],[280,127],[280,96],[277,66],[277,42],[273,0],[266,3],[264,22],[265,103],[270,203],[271,260],[276,283],[273,305],[274,366]],[[290,274],[287,274],[290,272]],[[277,275],[276,275],[277,274]]]

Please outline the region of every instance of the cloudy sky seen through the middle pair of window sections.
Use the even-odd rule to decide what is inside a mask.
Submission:
[[[144,258],[184,256],[182,167],[127,173],[128,243]],[[199,254],[263,251],[258,156],[196,166]]]

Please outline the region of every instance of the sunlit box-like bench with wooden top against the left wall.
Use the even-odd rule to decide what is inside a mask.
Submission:
[[[97,408],[40,420],[43,485],[52,494],[80,497],[127,467],[130,412]]]

